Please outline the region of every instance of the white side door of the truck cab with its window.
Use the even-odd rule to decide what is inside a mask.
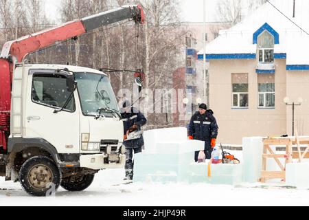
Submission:
[[[53,70],[30,70],[25,106],[26,137],[46,140],[58,153],[79,153],[80,116],[74,96],[64,107],[70,94],[65,76]],[[75,97],[78,96],[75,94]],[[62,107],[63,111],[54,111]]]

